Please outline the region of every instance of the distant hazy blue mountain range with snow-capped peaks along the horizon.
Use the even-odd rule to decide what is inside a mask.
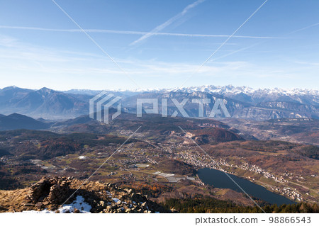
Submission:
[[[100,91],[55,91],[21,89],[9,86],[0,89],[0,114],[20,113],[33,118],[61,120],[89,113],[89,99]],[[176,98],[210,98],[205,108],[208,116],[217,98],[223,99],[232,118],[269,120],[275,118],[319,118],[319,93],[309,89],[252,89],[246,86],[197,86],[181,89],[109,91],[122,98],[124,112],[136,112],[137,98],[168,98],[168,115],[177,110],[170,101]],[[198,105],[189,101],[184,108],[190,117],[198,117]],[[162,113],[162,110],[159,110]],[[179,116],[181,114],[179,113]],[[218,115],[223,117],[225,115]]]

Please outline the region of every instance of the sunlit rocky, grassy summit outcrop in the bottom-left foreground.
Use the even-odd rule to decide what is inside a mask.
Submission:
[[[77,190],[79,189],[79,190]],[[74,193],[77,191],[76,193]],[[74,196],[72,194],[74,193]],[[70,196],[72,196],[70,198]],[[162,208],[132,189],[121,188],[111,183],[79,181],[71,177],[43,177],[30,188],[15,191],[0,191],[0,213],[29,210],[50,210],[55,213],[77,203],[79,197],[89,204],[90,213],[167,213]],[[62,204],[64,204],[62,206]],[[82,204],[82,203],[78,203]],[[83,210],[70,208],[73,213]],[[67,211],[70,211],[67,210]],[[67,213],[67,212],[63,212]]]

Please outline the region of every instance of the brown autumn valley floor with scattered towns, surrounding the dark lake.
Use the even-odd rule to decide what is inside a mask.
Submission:
[[[71,124],[58,123],[50,128],[55,132],[0,132],[1,189],[28,187],[43,176],[86,179],[103,165],[91,181],[135,188],[156,203],[201,195],[254,205],[243,193],[204,184],[197,171],[211,168],[252,181],[297,203],[318,202],[316,146],[245,140],[237,130],[211,119],[147,115],[133,120],[133,115],[123,114],[110,125],[89,119],[84,124]],[[89,125],[99,132],[89,133]],[[74,132],[69,132],[71,129]],[[133,137],[121,147],[130,135]]]

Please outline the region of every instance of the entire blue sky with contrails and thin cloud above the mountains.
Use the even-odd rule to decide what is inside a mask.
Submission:
[[[118,66],[52,0],[0,0],[0,88],[318,89],[317,0],[269,0],[222,47],[264,0],[55,1]]]

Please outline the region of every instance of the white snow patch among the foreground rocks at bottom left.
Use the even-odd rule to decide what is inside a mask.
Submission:
[[[74,209],[77,209],[80,211],[80,213],[90,213],[91,205],[89,203],[86,203],[84,201],[84,198],[82,196],[77,196],[77,199],[74,200],[71,204],[65,204],[62,206],[62,208],[59,208],[58,210],[60,213],[74,213]],[[23,211],[22,213],[55,213],[55,211],[50,210],[41,210],[41,211]]]

